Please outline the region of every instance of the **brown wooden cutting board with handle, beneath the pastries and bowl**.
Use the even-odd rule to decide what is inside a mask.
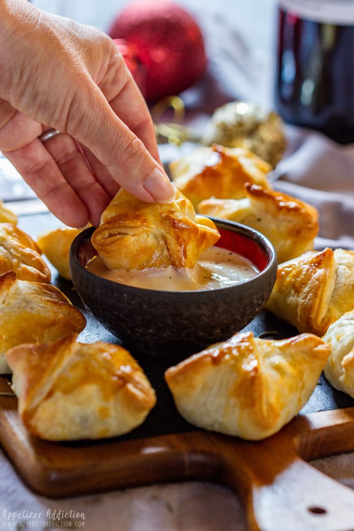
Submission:
[[[50,215],[27,217],[27,232],[39,233],[36,222],[41,230],[48,226],[45,216]],[[53,284],[83,311],[71,282],[53,271]],[[81,341],[117,342],[84,313],[88,325]],[[255,335],[271,332],[270,337],[278,339],[297,333],[267,312],[247,329]],[[163,380],[172,363],[148,356],[138,361],[156,389],[157,406],[130,434],[103,441],[53,443],[33,438],[19,420],[8,379],[0,377],[0,443],[34,491],[57,498],[201,479],[228,485],[240,495],[252,531],[354,529],[354,492],[306,463],[354,450],[354,400],[333,390],[324,376],[300,415],[278,434],[248,442],[189,425],[178,414]]]

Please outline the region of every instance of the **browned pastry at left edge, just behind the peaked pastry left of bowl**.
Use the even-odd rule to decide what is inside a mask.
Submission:
[[[20,280],[50,282],[50,270],[37,243],[12,223],[0,223],[0,274],[10,270]]]

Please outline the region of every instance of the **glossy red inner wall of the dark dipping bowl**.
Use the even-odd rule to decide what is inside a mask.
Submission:
[[[261,245],[254,239],[219,227],[220,239],[214,245],[238,253],[252,262],[258,271],[263,271],[269,259]]]

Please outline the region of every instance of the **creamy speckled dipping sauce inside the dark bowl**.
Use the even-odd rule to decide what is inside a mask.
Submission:
[[[222,249],[210,247],[204,251],[194,268],[108,269],[99,256],[95,256],[87,269],[99,277],[145,289],[170,292],[205,290],[234,286],[259,272],[243,256]]]

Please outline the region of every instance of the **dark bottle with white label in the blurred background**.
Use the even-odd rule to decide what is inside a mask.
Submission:
[[[280,0],[278,9],[275,109],[354,142],[354,1]]]

